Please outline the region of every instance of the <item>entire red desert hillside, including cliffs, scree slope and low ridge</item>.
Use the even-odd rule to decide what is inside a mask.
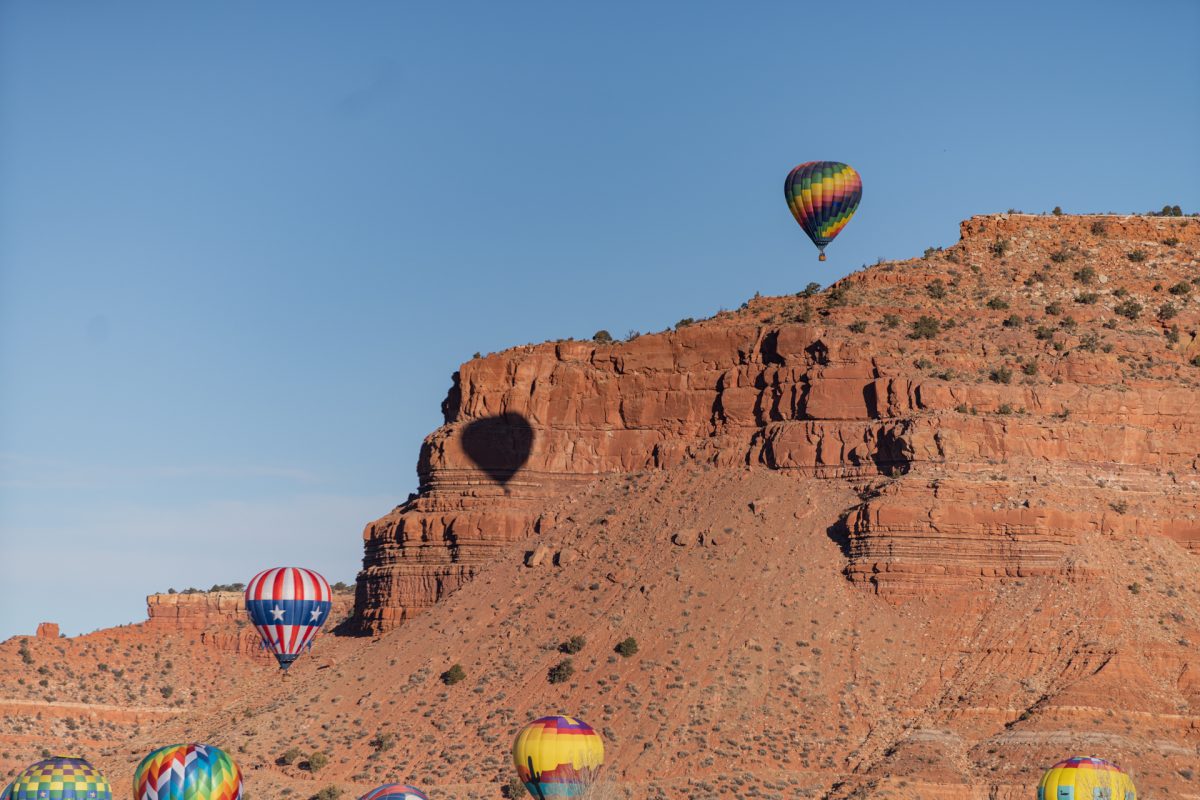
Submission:
[[[1198,252],[1195,218],[974,217],[826,290],[475,359],[343,634],[287,681],[236,596],[18,637],[0,766],[70,746],[125,787],[196,739],[256,799],[496,798],[569,711],[629,796],[1008,800],[1074,753],[1200,796]]]

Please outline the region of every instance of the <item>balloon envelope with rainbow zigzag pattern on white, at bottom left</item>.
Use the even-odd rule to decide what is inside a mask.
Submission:
[[[220,747],[168,745],[133,771],[134,800],[241,800],[241,770]]]

